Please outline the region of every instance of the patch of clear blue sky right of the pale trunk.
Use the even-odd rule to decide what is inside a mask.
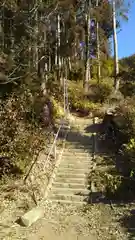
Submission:
[[[128,21],[121,22],[121,31],[117,34],[119,59],[135,54],[135,1],[130,7],[128,18]]]

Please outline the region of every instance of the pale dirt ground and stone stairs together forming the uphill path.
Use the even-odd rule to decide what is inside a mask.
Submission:
[[[89,119],[76,119],[80,130],[72,129],[59,169],[43,203],[44,217],[29,228],[13,223],[2,240],[126,240],[115,212],[103,203],[89,204],[87,174],[93,165],[92,138],[85,128]],[[60,203],[58,203],[60,202]],[[64,202],[64,204],[63,204]],[[66,204],[65,204],[66,203]],[[16,216],[15,216],[16,217]],[[4,231],[4,230],[3,230]]]

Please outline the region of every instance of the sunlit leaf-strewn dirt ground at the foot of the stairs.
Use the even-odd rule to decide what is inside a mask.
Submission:
[[[132,206],[133,207],[133,206]],[[121,226],[120,219],[130,206],[92,204],[87,206],[68,206],[44,204],[44,218],[25,228],[13,224],[3,226],[0,239],[5,240],[126,240],[131,235]],[[2,226],[1,226],[2,227]]]

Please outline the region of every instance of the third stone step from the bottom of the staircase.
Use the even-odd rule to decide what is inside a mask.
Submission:
[[[66,183],[66,182],[54,182],[52,187],[54,188],[73,188],[73,189],[76,189],[76,188],[88,188],[88,185],[86,185],[85,183],[73,183],[73,182],[69,182],[69,183]]]

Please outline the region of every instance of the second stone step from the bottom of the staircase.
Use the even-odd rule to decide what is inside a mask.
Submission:
[[[51,193],[52,194],[63,194],[63,195],[67,195],[67,194],[72,194],[72,195],[88,195],[90,193],[90,191],[86,188],[58,188],[58,187],[52,187],[51,189]]]

